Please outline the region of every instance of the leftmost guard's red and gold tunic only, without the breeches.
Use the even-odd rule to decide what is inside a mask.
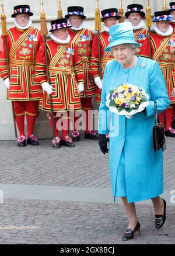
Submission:
[[[7,99],[38,101],[41,97],[41,86],[36,78],[36,54],[43,43],[43,37],[33,26],[26,30],[13,27],[7,32],[10,63]],[[5,49],[1,52],[0,63],[1,78],[5,79],[8,77]]]

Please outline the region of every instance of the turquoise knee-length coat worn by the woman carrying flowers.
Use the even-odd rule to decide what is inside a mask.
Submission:
[[[107,94],[124,82],[145,89],[149,95],[146,113],[136,113],[132,119],[127,119],[108,110]],[[101,92],[99,133],[110,132],[110,177],[114,201],[118,196],[116,188],[120,191],[122,187],[125,188],[128,203],[155,198],[163,193],[162,150],[155,152],[153,149],[154,101],[158,113],[170,105],[156,61],[138,57],[136,65],[128,70],[116,60],[107,63]],[[119,179],[121,169],[124,174]]]

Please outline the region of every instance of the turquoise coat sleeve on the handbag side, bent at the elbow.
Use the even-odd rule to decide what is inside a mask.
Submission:
[[[163,112],[170,105],[170,98],[167,95],[166,84],[159,64],[156,61],[152,62],[149,70],[149,89],[151,97],[149,105],[146,107],[146,117],[154,115],[154,102],[157,103],[158,113]]]

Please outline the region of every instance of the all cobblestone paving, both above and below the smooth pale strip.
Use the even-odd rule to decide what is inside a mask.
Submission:
[[[0,141],[0,183],[110,188],[108,155],[97,141],[81,140],[75,148],[16,147]],[[164,151],[164,188],[174,186],[175,139],[167,138]],[[0,188],[1,189],[1,188]],[[129,244],[174,244],[174,206],[167,206],[167,221],[156,230],[151,205],[136,205],[141,234]],[[121,244],[127,217],[121,204],[23,200],[5,198],[0,205],[0,244]]]

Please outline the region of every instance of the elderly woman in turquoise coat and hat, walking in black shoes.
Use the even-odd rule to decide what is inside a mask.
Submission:
[[[132,25],[120,23],[110,28],[106,51],[113,51],[115,60],[109,61],[104,71],[99,113],[99,146],[108,152],[105,134],[110,133],[110,177],[114,201],[120,196],[128,216],[128,229],[122,240],[139,234],[140,224],[135,202],[151,199],[155,210],[155,227],[160,229],[166,220],[166,201],[163,193],[162,150],[154,151],[152,129],[154,102],[158,113],[170,105],[162,72],[156,61],[136,56]],[[149,105],[132,119],[111,113],[106,96],[118,85],[128,83],[145,89]]]

